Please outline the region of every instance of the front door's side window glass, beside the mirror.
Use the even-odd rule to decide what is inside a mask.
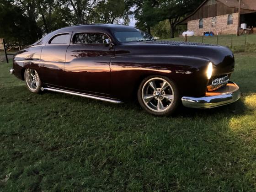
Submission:
[[[109,37],[101,33],[76,33],[73,37],[73,43],[80,45],[103,44],[105,39],[109,39]]]

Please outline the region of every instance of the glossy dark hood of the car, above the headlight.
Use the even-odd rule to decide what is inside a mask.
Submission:
[[[164,55],[164,56],[184,56],[206,59],[215,66],[215,72],[219,75],[234,71],[235,59],[232,51],[223,46],[177,42],[177,41],[153,41],[126,43],[118,46],[116,53],[128,55]]]

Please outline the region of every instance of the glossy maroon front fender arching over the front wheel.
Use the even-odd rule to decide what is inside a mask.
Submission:
[[[181,94],[202,96],[208,84],[209,59],[181,55],[118,56],[111,60],[111,93],[113,98],[127,100],[139,83],[149,75],[173,80]],[[129,85],[129,86],[126,86]]]

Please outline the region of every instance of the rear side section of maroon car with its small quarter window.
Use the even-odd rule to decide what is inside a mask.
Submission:
[[[71,32],[55,34],[43,47],[40,60],[40,78],[49,85],[63,86],[66,51]]]

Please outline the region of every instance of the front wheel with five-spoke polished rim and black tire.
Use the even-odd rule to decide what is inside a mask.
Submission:
[[[178,107],[180,96],[172,80],[164,76],[150,76],[141,82],[138,100],[145,111],[157,116],[168,116]]]

